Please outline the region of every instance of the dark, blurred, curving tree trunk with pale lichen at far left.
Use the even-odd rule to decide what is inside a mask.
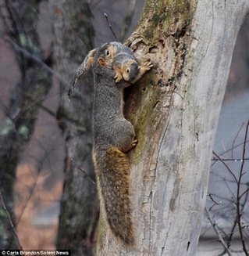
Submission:
[[[15,225],[13,186],[20,154],[30,142],[37,111],[51,88],[51,75],[45,62],[36,31],[39,1],[9,1],[1,5],[0,16],[5,40],[16,53],[20,82],[12,92],[9,106],[3,106],[6,117],[0,128],[0,192]],[[2,11],[5,9],[5,11]],[[20,22],[20,20],[22,22]],[[17,74],[18,75],[18,74]],[[0,248],[20,248],[8,215],[0,203]]]

